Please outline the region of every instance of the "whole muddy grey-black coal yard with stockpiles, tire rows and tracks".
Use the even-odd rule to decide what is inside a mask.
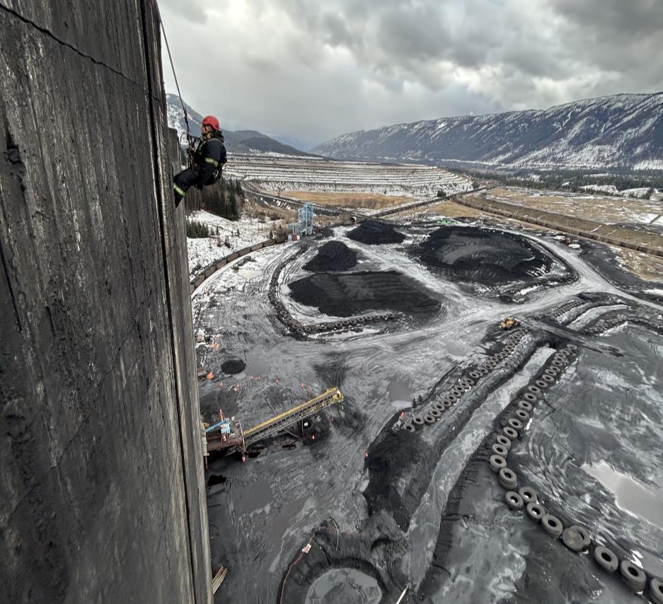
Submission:
[[[659,301],[497,223],[251,257],[192,299],[204,421],[267,435],[208,458],[217,602],[663,603]]]

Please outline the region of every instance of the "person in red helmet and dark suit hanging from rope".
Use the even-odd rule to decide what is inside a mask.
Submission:
[[[182,201],[192,185],[198,189],[213,185],[221,178],[221,170],[226,163],[224,135],[219,127],[219,120],[214,115],[207,115],[202,120],[202,138],[193,149],[189,147],[189,167],[173,178],[175,207]]]

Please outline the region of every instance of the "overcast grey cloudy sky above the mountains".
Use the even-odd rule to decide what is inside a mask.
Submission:
[[[185,101],[228,129],[322,142],[663,90],[662,0],[158,4]],[[175,92],[166,54],[163,69]]]

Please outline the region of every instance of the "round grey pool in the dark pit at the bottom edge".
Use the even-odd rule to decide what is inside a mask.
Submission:
[[[356,569],[333,569],[313,581],[306,604],[379,604],[382,590],[373,577]]]

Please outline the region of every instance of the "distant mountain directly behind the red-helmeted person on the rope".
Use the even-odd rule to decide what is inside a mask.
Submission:
[[[200,125],[202,115],[193,109],[187,103],[184,103],[187,109],[189,128],[194,137],[200,137]],[[180,98],[175,94],[166,95],[166,110],[168,110],[168,126],[178,131],[180,141],[185,141],[183,133],[187,131],[184,121],[184,112],[180,104]],[[226,149],[230,153],[279,153],[281,155],[299,155],[307,156],[295,149],[293,146],[279,143],[279,141],[265,136],[255,130],[226,130],[221,123],[221,129],[224,133]]]

